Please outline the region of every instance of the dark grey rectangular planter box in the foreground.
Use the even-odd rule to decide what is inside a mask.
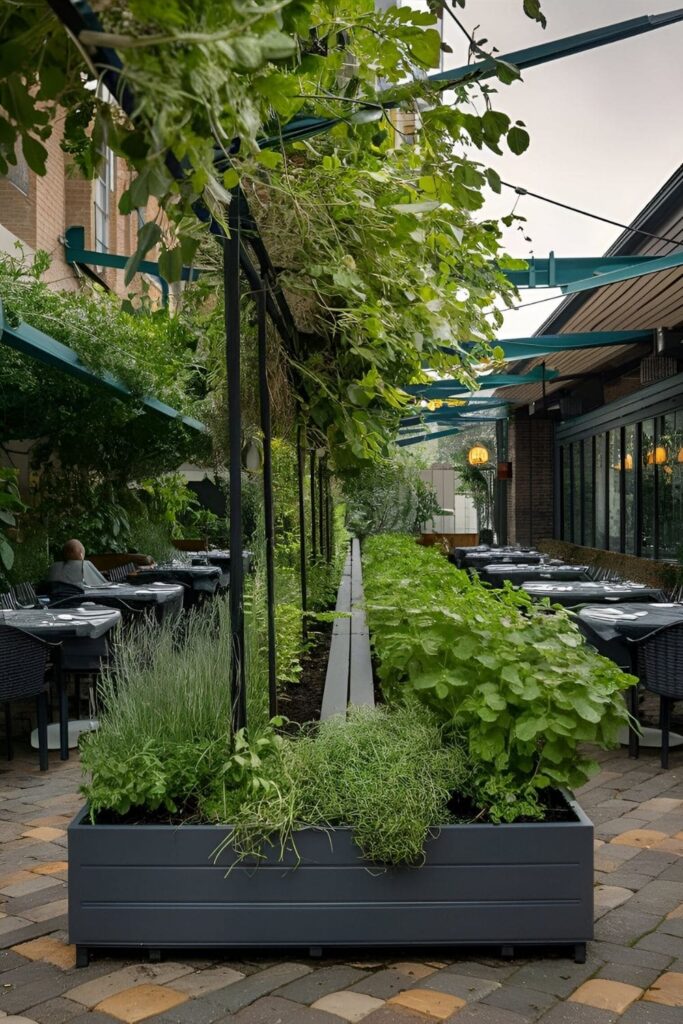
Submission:
[[[568,798],[567,798],[568,799]],[[446,825],[423,866],[369,869],[350,829],[302,829],[229,873],[213,863],[224,826],[88,823],[69,828],[69,934],[79,964],[97,946],[568,945],[593,935],[593,825]]]

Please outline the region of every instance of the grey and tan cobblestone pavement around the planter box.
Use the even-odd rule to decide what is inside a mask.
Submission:
[[[0,762],[1,1024],[683,1024],[683,754],[602,755],[579,794],[596,830],[588,962],[481,949],[244,959],[97,956],[67,942],[75,759]]]

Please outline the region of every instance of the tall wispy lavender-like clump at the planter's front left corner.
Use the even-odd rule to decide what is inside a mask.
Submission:
[[[99,729],[82,741],[102,810],[188,809],[230,754],[230,631],[217,598],[186,622],[142,624],[117,644],[99,680]]]

